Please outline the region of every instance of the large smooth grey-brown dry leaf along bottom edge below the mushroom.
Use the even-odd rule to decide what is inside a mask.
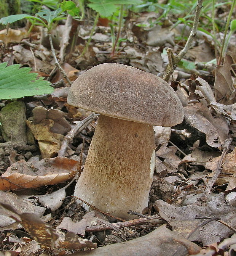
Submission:
[[[180,245],[181,244],[181,245]],[[185,246],[185,247],[184,247]],[[166,228],[166,224],[161,225],[154,231],[127,242],[107,245],[89,251],[90,256],[174,256],[175,250],[183,251],[182,255],[186,254],[186,249],[189,254],[196,254],[200,251],[200,247],[192,243],[182,235]],[[88,255],[87,251],[69,254],[69,256]]]

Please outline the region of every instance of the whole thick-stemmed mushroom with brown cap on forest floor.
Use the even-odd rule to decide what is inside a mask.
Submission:
[[[174,90],[148,72],[105,63],[76,79],[67,102],[100,113],[74,195],[123,219],[132,219],[129,210],[142,213],[155,168],[153,125],[183,120]]]

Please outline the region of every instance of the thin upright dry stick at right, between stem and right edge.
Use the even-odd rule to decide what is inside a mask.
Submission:
[[[204,194],[207,196],[207,194],[210,193],[210,190],[212,189],[213,185],[215,184],[215,181],[217,180],[218,176],[220,175],[222,169],[221,169],[221,166],[223,164],[223,161],[225,159],[225,155],[229,149],[229,146],[230,146],[230,143],[232,142],[232,139],[231,138],[228,138],[225,140],[225,144],[223,146],[223,150],[222,150],[222,155],[220,157],[220,160],[218,161],[217,163],[217,168],[215,170],[215,174],[214,176],[212,177],[212,179],[208,182],[207,184],[207,187],[205,189],[205,192]]]

